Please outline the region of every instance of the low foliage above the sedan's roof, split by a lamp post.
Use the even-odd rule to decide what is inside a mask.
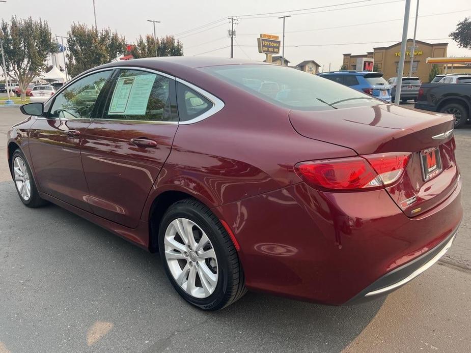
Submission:
[[[134,58],[154,57],[155,56],[155,41],[151,35],[146,35],[146,38],[139,36],[136,44],[132,47],[130,54]],[[182,56],[183,45],[179,40],[175,40],[174,36],[165,36],[160,39],[157,38],[157,54],[158,56]]]

